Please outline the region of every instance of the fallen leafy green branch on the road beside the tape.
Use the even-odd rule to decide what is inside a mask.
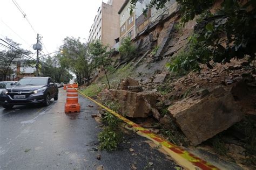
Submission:
[[[117,102],[108,101],[106,107],[113,111],[120,110],[120,104]],[[100,150],[113,151],[116,150],[118,144],[123,140],[123,131],[120,127],[120,119],[113,116],[110,112],[105,112],[103,123],[106,124],[103,131],[99,133],[98,140],[100,142]]]

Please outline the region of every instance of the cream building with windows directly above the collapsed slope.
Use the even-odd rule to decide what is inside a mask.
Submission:
[[[146,8],[146,5],[149,4],[149,2],[150,0],[139,0],[131,15],[131,0],[125,0],[124,4],[118,11],[120,17],[120,41],[125,37],[130,37],[131,39],[136,37],[136,19],[142,15],[143,9]]]

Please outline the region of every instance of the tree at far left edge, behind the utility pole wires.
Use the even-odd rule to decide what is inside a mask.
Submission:
[[[16,66],[14,66],[14,63],[22,60],[24,58],[24,55],[29,55],[30,52],[22,49],[20,46],[21,44],[18,44],[17,42],[12,41],[9,38],[5,38],[5,40],[9,43],[8,51],[1,51],[0,52],[0,72],[3,74],[3,80],[6,80],[6,76],[14,73],[14,69]],[[12,67],[14,66],[14,67]]]

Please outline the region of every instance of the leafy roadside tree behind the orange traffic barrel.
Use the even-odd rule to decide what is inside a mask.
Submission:
[[[84,77],[89,83],[94,66],[92,56],[88,52],[89,46],[80,42],[79,38],[66,37],[60,48],[63,51],[63,57],[60,59],[62,65],[76,74],[79,84]]]

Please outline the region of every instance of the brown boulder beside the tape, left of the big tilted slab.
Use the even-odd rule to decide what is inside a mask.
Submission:
[[[152,92],[135,93],[126,90],[105,89],[98,95],[100,102],[118,101],[122,114],[127,117],[148,117],[153,115],[159,119],[160,114],[156,109],[157,95]]]

